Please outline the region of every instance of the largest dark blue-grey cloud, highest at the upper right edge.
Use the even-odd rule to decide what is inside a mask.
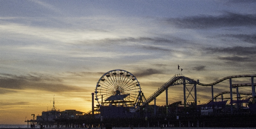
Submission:
[[[226,13],[221,16],[191,16],[167,20],[179,28],[206,29],[219,27],[256,26],[256,15]]]

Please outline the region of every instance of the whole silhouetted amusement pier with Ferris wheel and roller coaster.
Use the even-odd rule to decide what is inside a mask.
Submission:
[[[126,70],[111,70],[103,74],[96,84],[95,92],[92,93],[91,111],[87,113],[75,110],[49,111],[49,115],[44,118],[37,116],[40,121],[33,120],[33,122],[37,125],[45,124],[48,127],[74,127],[76,124],[82,126],[83,123],[96,127],[102,124],[112,124],[116,127],[159,127],[160,125],[166,127],[205,127],[205,125],[208,127],[256,127],[253,121],[256,114],[254,77],[256,75],[228,76],[210,84],[203,84],[199,80],[195,81],[182,74],[175,74],[146,99],[139,81],[133,74]],[[232,79],[235,78],[250,78],[251,83],[233,84]],[[214,96],[214,86],[225,80],[229,80],[228,91]],[[168,88],[177,85],[183,86],[183,102],[168,104]],[[196,87],[198,85],[211,87],[211,99],[204,104],[197,100]],[[239,92],[239,87],[245,86],[250,86],[251,92]],[[156,98],[164,91],[166,105],[157,106]],[[224,94],[228,94],[228,98],[223,98]],[[236,94],[236,97],[233,97],[233,94]],[[245,99],[241,100],[243,98],[241,95],[245,95]],[[216,99],[219,96],[221,96],[221,101],[217,102]],[[189,97],[190,100],[188,100]],[[149,105],[153,100],[154,105]],[[228,100],[229,104],[227,104]],[[96,107],[94,101],[97,101]],[[246,107],[242,106],[243,103]],[[54,117],[50,116],[51,113],[55,114]],[[47,121],[45,121],[46,118]],[[49,118],[52,119],[48,120]],[[32,120],[25,122],[29,123]]]

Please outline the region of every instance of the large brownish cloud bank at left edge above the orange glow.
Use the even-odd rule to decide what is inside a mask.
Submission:
[[[76,86],[69,86],[63,84],[57,78],[52,78],[49,76],[43,77],[34,77],[32,75],[28,76],[16,76],[11,74],[0,74],[0,88],[5,89],[1,90],[1,94],[17,92],[12,91],[11,89],[36,89],[41,91],[51,91],[51,92],[65,92],[65,91],[81,91],[83,89]]]

